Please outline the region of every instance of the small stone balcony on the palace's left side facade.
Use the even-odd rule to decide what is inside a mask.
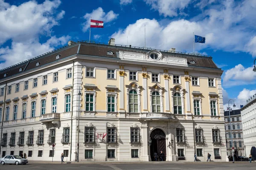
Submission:
[[[47,129],[51,126],[59,127],[60,124],[60,113],[47,113],[40,117],[42,125],[46,125]]]

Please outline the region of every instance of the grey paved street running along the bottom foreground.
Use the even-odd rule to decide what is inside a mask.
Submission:
[[[1,170],[255,170],[256,163],[31,163],[0,165]]]

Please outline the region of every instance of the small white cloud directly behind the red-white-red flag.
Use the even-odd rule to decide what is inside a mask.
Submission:
[[[84,15],[84,19],[86,20],[82,23],[83,31],[87,31],[90,27],[90,19],[92,20],[100,20],[104,23],[111,22],[118,17],[119,14],[115,14],[113,11],[109,11],[107,14],[103,11],[101,7],[93,10],[91,13],[87,13]]]

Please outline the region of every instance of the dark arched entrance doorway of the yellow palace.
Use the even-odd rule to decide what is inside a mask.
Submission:
[[[150,156],[151,161],[154,161],[154,152],[156,152],[159,155],[159,158],[157,159],[160,161],[160,152],[163,151],[164,158],[163,160],[166,160],[166,137],[165,133],[161,129],[155,129],[150,134],[150,139],[152,140],[150,145]]]

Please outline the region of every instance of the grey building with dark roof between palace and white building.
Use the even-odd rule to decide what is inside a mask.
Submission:
[[[233,110],[224,111],[225,119],[225,132],[226,132],[226,145],[227,145],[227,155],[232,156],[232,147],[234,147],[234,154],[236,157],[245,156],[244,154],[244,142],[243,142],[243,130],[241,121],[241,111]],[[230,126],[231,123],[231,126]],[[233,139],[233,144],[232,140]]]

